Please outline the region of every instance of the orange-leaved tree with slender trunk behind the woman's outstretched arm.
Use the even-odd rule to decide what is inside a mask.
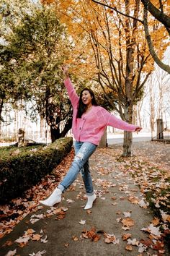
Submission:
[[[143,27],[138,24],[139,2],[133,1],[133,9],[129,1],[115,3],[125,9],[127,15],[133,13],[135,20],[131,21],[91,1],[61,1],[56,8],[61,12],[60,18],[66,22],[69,33],[74,27],[71,36],[75,40],[86,40],[81,52],[86,74],[99,83],[109,106],[123,120],[132,123],[133,105],[141,98],[143,86],[153,69],[153,61],[146,46]],[[78,43],[77,48],[81,48]],[[78,61],[76,64],[80,66]],[[131,144],[132,134],[125,132],[123,155],[132,155]]]

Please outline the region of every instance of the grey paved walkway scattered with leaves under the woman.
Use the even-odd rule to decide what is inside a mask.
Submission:
[[[90,160],[97,193],[97,202],[91,210],[83,209],[86,200],[79,176],[69,191],[63,194],[58,208],[44,207],[30,214],[12,233],[4,236],[1,245],[6,241],[13,243],[1,247],[0,255],[15,249],[17,253],[9,255],[158,255],[151,248],[142,252],[145,247],[140,242],[146,241],[148,234],[141,229],[150,225],[153,216],[148,208],[141,208],[135,202],[135,199],[142,202],[143,195],[133,178],[121,171],[120,163],[109,156],[110,150],[98,149]],[[24,234],[25,239],[22,240]],[[20,244],[14,242],[19,237],[22,237]]]

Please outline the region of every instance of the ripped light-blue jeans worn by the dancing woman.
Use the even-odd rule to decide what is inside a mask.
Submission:
[[[61,189],[62,192],[65,191],[75,181],[79,172],[81,172],[81,176],[84,180],[84,186],[86,188],[86,195],[93,195],[94,189],[89,171],[89,157],[94,153],[97,145],[90,142],[76,141],[74,148],[76,156],[68,170],[68,173],[58,185],[58,188]]]

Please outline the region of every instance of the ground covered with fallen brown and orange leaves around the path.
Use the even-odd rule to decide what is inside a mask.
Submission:
[[[138,255],[165,255],[165,243],[169,239],[169,158],[164,158],[169,145],[162,145],[155,142],[145,142],[135,145],[135,156],[132,158],[122,158],[122,146],[115,145],[112,148],[97,149],[97,152],[91,156],[92,171],[97,173],[94,178],[94,188],[96,189],[97,197],[104,202],[107,200],[109,189],[117,189],[122,194],[118,196],[115,192],[111,197],[111,207],[114,213],[117,205],[120,202],[128,201],[132,205],[138,205],[140,208],[153,210],[154,217],[151,223],[146,223],[146,226],[140,226],[139,231],[147,234],[147,239],[138,239],[130,231],[137,225],[133,219],[132,211],[125,208],[116,211],[116,222],[120,223],[120,237],[123,242],[126,242],[125,250],[127,255],[132,254],[134,247],[138,247]],[[166,151],[164,151],[166,149]],[[165,152],[165,153],[164,153]],[[25,192],[24,197],[12,200],[7,205],[1,205],[1,238],[5,234],[9,234],[28,213],[32,213],[30,223],[34,224],[37,221],[55,216],[55,220],[62,221],[65,218],[69,205],[75,203],[73,198],[65,200],[65,206],[59,205],[58,208],[50,208],[46,212],[37,214],[37,210],[42,209],[39,205],[39,200],[47,197],[60,179],[66,174],[73,160],[73,150],[61,162],[61,164],[53,171],[53,174],[48,175],[45,179]],[[122,181],[122,176],[125,179]],[[112,178],[114,177],[114,179]],[[141,195],[138,195],[138,188],[130,187],[128,182],[134,181],[140,187]],[[79,181],[76,182],[79,184]],[[71,186],[70,191],[75,190],[75,186]],[[84,189],[82,183],[79,184],[81,189]],[[76,200],[86,202],[84,192],[79,192]],[[72,209],[73,210],[73,209]],[[110,210],[110,205],[109,209]],[[86,215],[91,216],[93,209],[87,210]],[[79,216],[79,225],[82,226],[81,234],[74,234],[71,237],[72,242],[81,242],[83,239],[89,239],[91,242],[103,241],[105,244],[120,244],[120,237],[117,238],[113,233],[108,233],[104,229],[99,229],[92,225],[86,226],[86,219]],[[124,232],[123,234],[121,232]],[[79,233],[79,232],[78,232]],[[7,240],[2,247],[13,246],[9,249],[9,254],[17,255],[18,246],[24,247],[30,241],[48,244],[48,234],[45,230],[40,232],[34,229],[27,229],[22,236],[19,236],[15,241]],[[14,247],[15,244],[15,247]],[[64,247],[71,246],[71,241],[64,244]],[[149,248],[154,250],[149,252]],[[45,255],[44,249],[32,252],[30,255]]]

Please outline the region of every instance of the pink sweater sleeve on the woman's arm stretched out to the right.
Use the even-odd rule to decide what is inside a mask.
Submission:
[[[138,127],[134,124],[128,124],[126,121],[122,121],[121,119],[118,119],[116,116],[110,114],[108,111],[105,114],[105,118],[107,121],[107,125],[115,127],[117,129],[122,129],[124,131],[128,132],[135,132],[135,129]]]

